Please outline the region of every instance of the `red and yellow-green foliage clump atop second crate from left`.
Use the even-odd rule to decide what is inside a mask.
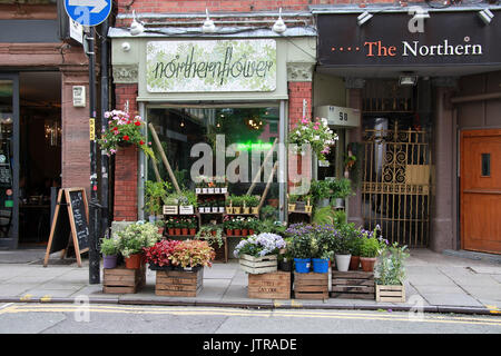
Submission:
[[[212,267],[212,260],[216,257],[214,249],[207,241],[183,240],[174,247],[170,261],[180,267]]]

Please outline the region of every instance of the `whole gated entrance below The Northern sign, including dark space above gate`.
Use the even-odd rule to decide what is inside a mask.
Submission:
[[[429,81],[367,80],[363,97],[362,214],[390,241],[426,247],[430,228]]]

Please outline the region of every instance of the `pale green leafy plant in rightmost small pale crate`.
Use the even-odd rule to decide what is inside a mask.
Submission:
[[[405,279],[405,259],[409,258],[406,246],[397,243],[385,246],[375,268],[376,284],[384,286],[400,286]]]

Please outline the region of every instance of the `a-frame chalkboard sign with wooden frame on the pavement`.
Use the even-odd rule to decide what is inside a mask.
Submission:
[[[81,267],[80,254],[89,250],[88,221],[89,207],[86,189],[59,189],[43,267],[47,267],[50,254],[62,251],[61,258],[65,258],[70,243],[75,248],[78,267]]]

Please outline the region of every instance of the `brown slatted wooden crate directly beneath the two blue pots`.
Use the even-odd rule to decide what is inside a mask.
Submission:
[[[328,274],[294,273],[294,297],[296,299],[327,299]]]

